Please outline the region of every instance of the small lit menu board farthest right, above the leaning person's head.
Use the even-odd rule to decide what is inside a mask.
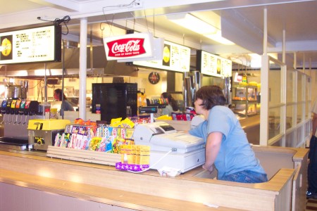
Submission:
[[[197,70],[204,75],[216,77],[232,76],[232,61],[206,51],[197,51]]]

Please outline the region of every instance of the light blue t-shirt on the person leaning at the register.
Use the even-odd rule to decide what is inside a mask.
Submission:
[[[244,170],[266,174],[255,157],[239,120],[230,108],[213,107],[209,112],[208,120],[190,130],[189,134],[199,136],[206,141],[211,132],[223,134],[220,151],[215,160],[218,179]]]

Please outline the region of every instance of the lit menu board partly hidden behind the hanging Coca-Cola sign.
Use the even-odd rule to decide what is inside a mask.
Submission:
[[[163,60],[142,60],[135,61],[133,64],[149,68],[189,72],[190,49],[170,41],[164,41]]]

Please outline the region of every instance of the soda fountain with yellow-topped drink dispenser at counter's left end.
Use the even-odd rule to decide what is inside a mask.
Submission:
[[[3,116],[0,125],[4,127],[4,136],[0,137],[0,148],[22,151],[46,150],[54,139],[52,134],[56,134],[56,130],[63,130],[69,123],[69,120],[49,119],[49,103],[39,104],[38,101],[27,100],[27,84],[25,81],[20,86],[6,87],[5,99],[0,103],[0,112]],[[55,126],[51,126],[52,124]]]

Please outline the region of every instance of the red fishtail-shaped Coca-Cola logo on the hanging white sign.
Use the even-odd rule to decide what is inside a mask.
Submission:
[[[144,49],[143,38],[123,38],[109,41],[106,43],[108,46],[108,56],[116,58],[125,58],[131,56],[139,56],[146,53]]]

